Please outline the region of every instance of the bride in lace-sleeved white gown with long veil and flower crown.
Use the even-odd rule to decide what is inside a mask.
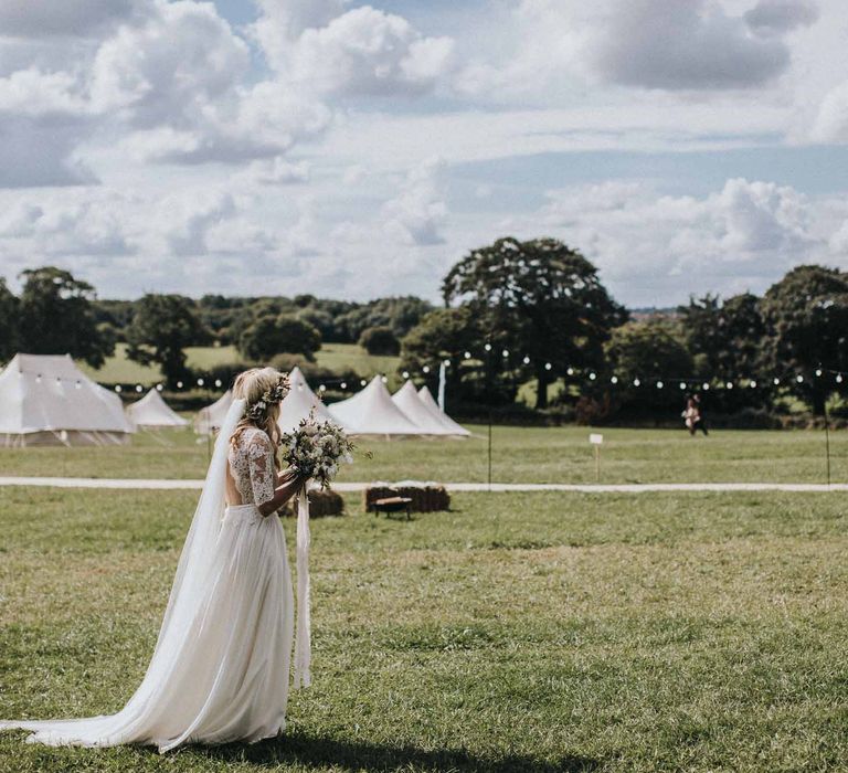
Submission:
[[[112,746],[254,742],[285,728],[294,594],[275,512],[298,494],[295,686],[309,684],[306,480],[277,473],[279,403],[288,380],[273,368],[235,380],[203,491],[180,555],[141,685],[116,714],[0,721],[29,743]]]

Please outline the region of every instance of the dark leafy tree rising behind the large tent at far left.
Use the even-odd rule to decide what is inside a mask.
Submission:
[[[53,266],[25,271],[21,278],[21,349],[30,354],[71,354],[102,367],[115,350],[115,339],[97,326],[94,287]]]

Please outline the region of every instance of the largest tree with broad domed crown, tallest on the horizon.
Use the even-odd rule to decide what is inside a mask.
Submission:
[[[445,304],[471,308],[497,348],[530,358],[537,407],[566,368],[597,368],[610,330],[627,314],[580,252],[555,239],[500,239],[473,250],[443,284]],[[548,364],[550,363],[550,368]]]

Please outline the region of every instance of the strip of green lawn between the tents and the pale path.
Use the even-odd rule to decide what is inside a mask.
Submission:
[[[371,440],[342,472],[343,480],[484,481],[487,430],[467,440]],[[603,483],[825,483],[822,431],[716,431],[689,437],[674,430],[603,430]],[[492,431],[492,477],[505,483],[593,483],[589,427]],[[848,433],[830,433],[834,481],[848,481]],[[0,474],[130,478],[200,478],[209,443],[192,432],[139,433],[108,448],[0,449]]]

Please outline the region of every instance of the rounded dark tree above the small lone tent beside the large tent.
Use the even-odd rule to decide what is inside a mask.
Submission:
[[[181,295],[144,296],[136,306],[127,328],[127,357],[141,364],[157,363],[168,383],[190,375],[186,366],[186,347],[209,342],[194,301]]]

